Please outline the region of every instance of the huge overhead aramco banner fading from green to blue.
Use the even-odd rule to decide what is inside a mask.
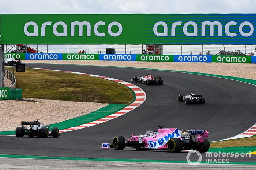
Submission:
[[[3,14],[0,44],[254,44],[256,14]]]

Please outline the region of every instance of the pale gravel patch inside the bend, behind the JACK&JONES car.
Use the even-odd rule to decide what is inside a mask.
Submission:
[[[23,98],[0,101],[0,131],[15,130],[22,121],[40,119],[45,125],[58,123],[96,111],[108,104],[66,102]]]

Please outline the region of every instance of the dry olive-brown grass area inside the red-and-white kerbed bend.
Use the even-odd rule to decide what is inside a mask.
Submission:
[[[12,71],[12,67],[5,67]],[[39,98],[75,102],[128,104],[133,94],[123,84],[86,75],[26,69],[15,72],[16,88],[24,98]]]

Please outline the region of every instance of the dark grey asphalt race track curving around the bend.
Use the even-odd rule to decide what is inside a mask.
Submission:
[[[180,130],[206,129],[210,132],[209,141],[217,141],[240,134],[256,122],[256,86],[247,83],[196,74],[116,67],[54,64],[26,66],[84,72],[124,81],[129,81],[133,76],[150,73],[162,76],[163,85],[134,83],[147,95],[141,106],[108,122],[62,133],[60,138],[1,137],[0,154],[185,161],[187,153],[104,150],[101,145],[111,142],[115,135],[129,137],[132,133],[144,134],[147,130],[157,130],[158,125]],[[178,95],[191,91],[201,94],[206,99],[206,104],[185,105],[177,101]],[[256,157],[252,156],[233,161],[255,160]]]

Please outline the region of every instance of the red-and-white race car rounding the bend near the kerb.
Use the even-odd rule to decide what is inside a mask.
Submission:
[[[151,76],[150,74],[141,76],[141,77],[133,77],[131,79],[132,82],[140,82],[140,83],[145,83],[147,85],[150,84],[163,84],[163,80],[160,76]]]

